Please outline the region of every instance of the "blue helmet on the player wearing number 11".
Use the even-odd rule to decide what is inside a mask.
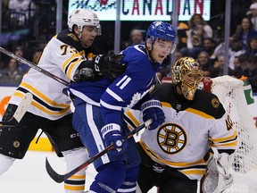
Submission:
[[[176,37],[176,30],[172,25],[170,25],[170,23],[163,21],[153,21],[146,31],[145,42],[147,41],[147,38],[151,39],[152,44],[157,38],[165,41],[171,41],[172,47],[170,49],[170,54],[172,54],[176,48]]]

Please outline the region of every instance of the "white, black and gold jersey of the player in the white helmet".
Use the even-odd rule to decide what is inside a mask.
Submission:
[[[70,82],[79,64],[87,60],[89,49],[85,49],[79,38],[68,29],[52,38],[37,64],[55,76]],[[25,93],[33,94],[28,112],[56,120],[70,112],[70,98],[62,93],[66,86],[45,74],[30,69],[16,89],[10,104],[19,105]]]

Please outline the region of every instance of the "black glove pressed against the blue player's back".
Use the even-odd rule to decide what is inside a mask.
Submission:
[[[124,55],[96,55],[93,58],[95,73],[99,72],[111,80],[115,80],[126,71],[127,65],[120,63],[123,57]]]

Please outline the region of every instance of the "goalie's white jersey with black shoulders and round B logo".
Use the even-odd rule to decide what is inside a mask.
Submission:
[[[217,96],[197,89],[195,99],[188,101],[172,84],[158,85],[151,94],[162,102],[165,122],[156,130],[145,130],[140,144],[154,162],[199,180],[206,169],[203,157],[210,147],[235,151],[236,130]],[[135,110],[126,112],[125,120],[131,128],[143,122]]]

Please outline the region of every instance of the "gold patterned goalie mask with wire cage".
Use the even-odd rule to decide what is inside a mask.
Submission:
[[[172,83],[177,85],[187,100],[193,100],[203,71],[192,57],[182,57],[171,68]]]

